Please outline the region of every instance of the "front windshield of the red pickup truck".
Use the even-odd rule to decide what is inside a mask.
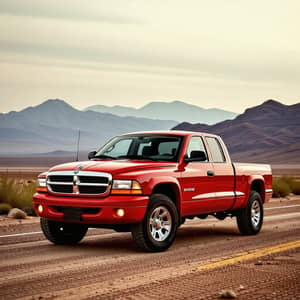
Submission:
[[[170,135],[134,135],[116,137],[95,158],[178,161],[182,137]]]

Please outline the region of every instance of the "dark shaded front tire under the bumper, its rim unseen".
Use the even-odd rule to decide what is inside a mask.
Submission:
[[[45,237],[56,245],[74,245],[85,236],[88,227],[84,224],[50,221],[41,218]]]

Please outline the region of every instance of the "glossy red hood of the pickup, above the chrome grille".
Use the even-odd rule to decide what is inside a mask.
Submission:
[[[141,160],[91,160],[61,164],[52,167],[52,171],[75,171],[78,168],[82,171],[106,172],[112,175],[143,169],[159,169],[175,167],[174,162],[154,162]]]

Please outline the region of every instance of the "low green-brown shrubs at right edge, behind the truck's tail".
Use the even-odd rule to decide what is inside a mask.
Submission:
[[[273,179],[273,197],[286,197],[290,193],[300,195],[300,182],[293,177],[283,176]]]

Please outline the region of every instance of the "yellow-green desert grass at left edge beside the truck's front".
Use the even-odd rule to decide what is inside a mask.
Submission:
[[[18,180],[2,176],[0,178],[0,204],[25,210],[29,215],[35,215],[32,196],[35,193],[35,182]]]

